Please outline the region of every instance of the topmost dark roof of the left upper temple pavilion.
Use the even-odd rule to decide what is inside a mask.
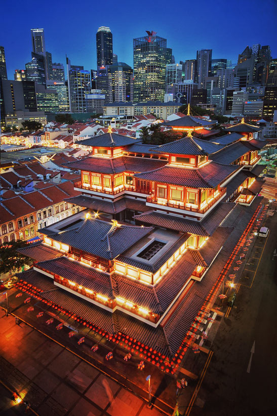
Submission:
[[[138,143],[138,140],[133,137],[123,136],[117,133],[105,133],[100,134],[99,136],[86,138],[85,140],[79,140],[75,143],[77,145],[91,147],[123,147],[133,143]]]

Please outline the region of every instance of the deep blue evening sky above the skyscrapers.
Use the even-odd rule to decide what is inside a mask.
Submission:
[[[88,0],[2,0],[0,45],[5,47],[8,78],[16,68],[25,69],[31,57],[30,29],[45,29],[46,50],[53,62],[96,68],[95,33],[109,26],[113,52],[133,66],[133,38],[154,30],[167,39],[176,62],[193,59],[197,49],[213,49],[213,58],[233,62],[249,45],[270,45],[277,57],[277,2],[232,0],[231,2],[170,2],[169,0],[120,2]]]

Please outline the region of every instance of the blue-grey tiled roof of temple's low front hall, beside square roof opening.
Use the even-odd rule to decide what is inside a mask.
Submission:
[[[152,231],[152,227],[114,225],[102,220],[86,219],[70,229],[54,232],[43,228],[42,233],[56,241],[104,259],[114,259]]]

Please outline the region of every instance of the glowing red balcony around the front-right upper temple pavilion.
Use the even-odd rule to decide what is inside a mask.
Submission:
[[[226,188],[221,188],[221,190],[215,194],[213,198],[208,201],[204,201],[203,203],[198,205],[181,202],[181,201],[173,201],[173,200],[163,200],[157,197],[154,193],[149,195],[146,198],[146,205],[148,204],[157,204],[162,206],[169,206],[173,209],[182,210],[184,213],[197,213],[197,214],[205,214],[219,199],[221,199],[226,194]]]

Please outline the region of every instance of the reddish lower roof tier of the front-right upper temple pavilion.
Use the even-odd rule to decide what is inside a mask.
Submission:
[[[210,162],[203,167],[190,169],[184,167],[163,166],[152,172],[136,174],[135,177],[146,181],[192,188],[214,188],[231,175],[238,166]]]

